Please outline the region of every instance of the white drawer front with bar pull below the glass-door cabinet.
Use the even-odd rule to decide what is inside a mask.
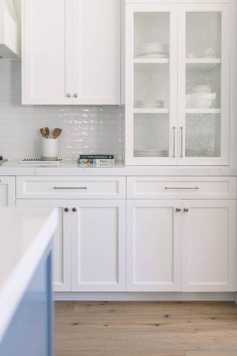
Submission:
[[[127,177],[128,199],[236,199],[236,177]]]

